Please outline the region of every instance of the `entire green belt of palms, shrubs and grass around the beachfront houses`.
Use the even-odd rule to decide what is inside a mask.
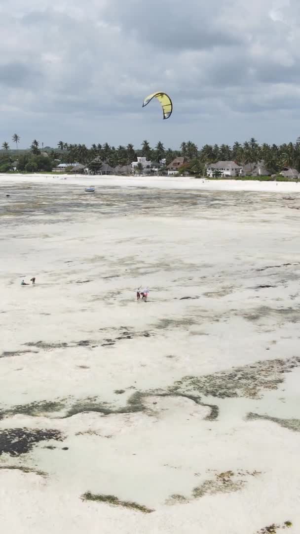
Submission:
[[[254,138],[241,144],[235,142],[232,147],[229,145],[204,145],[198,148],[196,144],[191,141],[183,142],[179,150],[172,150],[165,148],[161,141],[151,147],[147,139],[141,143],[141,148],[134,148],[133,144],[129,143],[127,146],[119,145],[118,147],[110,146],[108,143],[96,144],[93,143],[90,148],[85,144],[69,144],[60,140],[56,148],[45,147],[40,151],[40,145],[37,139],[31,143],[30,149],[27,151],[19,150],[18,144],[20,136],[14,133],[12,142],[16,145],[17,150],[10,150],[9,144],[4,141],[2,144],[3,150],[0,150],[0,172],[7,172],[7,168],[12,167],[15,159],[20,159],[20,156],[26,156],[26,163],[18,164],[18,171],[37,172],[37,171],[51,171],[59,162],[61,163],[82,163],[84,165],[101,166],[103,162],[108,163],[112,168],[117,166],[125,166],[136,161],[137,156],[145,156],[152,162],[160,162],[165,159],[165,166],[161,168],[161,174],[166,172],[166,166],[176,157],[183,157],[187,162],[179,169],[180,174],[188,172],[194,176],[203,176],[205,174],[205,166],[207,163],[215,163],[216,161],[236,161],[238,164],[252,165],[257,161],[263,160],[265,167],[273,175],[281,172],[283,168],[293,167],[300,170],[300,137],[295,143],[283,143],[282,145],[269,145],[263,143],[258,144]],[[36,159],[43,154],[42,159]],[[45,161],[46,160],[46,161]],[[139,168],[137,168],[139,170]],[[214,172],[214,178],[220,177],[220,171]],[[272,180],[271,177],[238,177],[237,179],[260,179]],[[276,178],[278,180],[286,181],[283,177]]]

